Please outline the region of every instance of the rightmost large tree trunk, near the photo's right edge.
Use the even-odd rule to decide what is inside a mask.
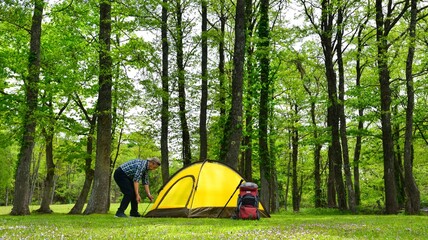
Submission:
[[[420,192],[413,176],[413,110],[415,105],[415,91],[413,88],[413,58],[415,54],[416,39],[416,17],[417,0],[410,0],[410,24],[409,24],[409,50],[406,61],[406,88],[407,88],[407,109],[406,109],[406,133],[404,143],[404,182],[406,191],[405,210],[408,214],[417,214],[420,210]]]

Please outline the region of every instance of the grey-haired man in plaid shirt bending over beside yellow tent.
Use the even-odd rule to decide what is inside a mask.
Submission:
[[[120,165],[114,171],[114,180],[123,193],[116,217],[127,217],[125,210],[128,208],[129,203],[131,203],[131,217],[141,217],[138,213],[138,203],[141,201],[139,181],[142,180],[147,197],[150,201],[153,201],[153,196],[150,194],[149,189],[149,170],[157,169],[160,164],[157,157],[149,158],[148,160],[134,159]]]

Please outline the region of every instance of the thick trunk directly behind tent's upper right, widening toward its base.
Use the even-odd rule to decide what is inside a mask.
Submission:
[[[225,149],[220,153],[220,159],[224,159],[225,163],[234,169],[238,167],[238,156],[242,137],[242,92],[246,46],[245,18],[245,1],[237,0],[232,73],[232,106],[229,110],[223,136],[222,146],[224,146]]]

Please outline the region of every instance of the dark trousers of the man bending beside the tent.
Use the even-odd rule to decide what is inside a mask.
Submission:
[[[129,203],[131,203],[131,215],[137,214],[138,202],[135,196],[134,181],[120,167],[114,171],[114,181],[116,181],[120,191],[123,193],[117,212],[124,213]]]

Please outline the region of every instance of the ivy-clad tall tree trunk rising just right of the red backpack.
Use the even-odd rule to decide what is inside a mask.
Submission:
[[[260,1],[260,22],[258,25],[259,44],[257,52],[260,65],[260,107],[259,107],[259,157],[261,200],[270,203],[272,192],[273,164],[269,155],[268,126],[269,126],[269,96],[270,96],[270,29],[269,29],[269,0]],[[266,206],[270,211],[270,204]]]

